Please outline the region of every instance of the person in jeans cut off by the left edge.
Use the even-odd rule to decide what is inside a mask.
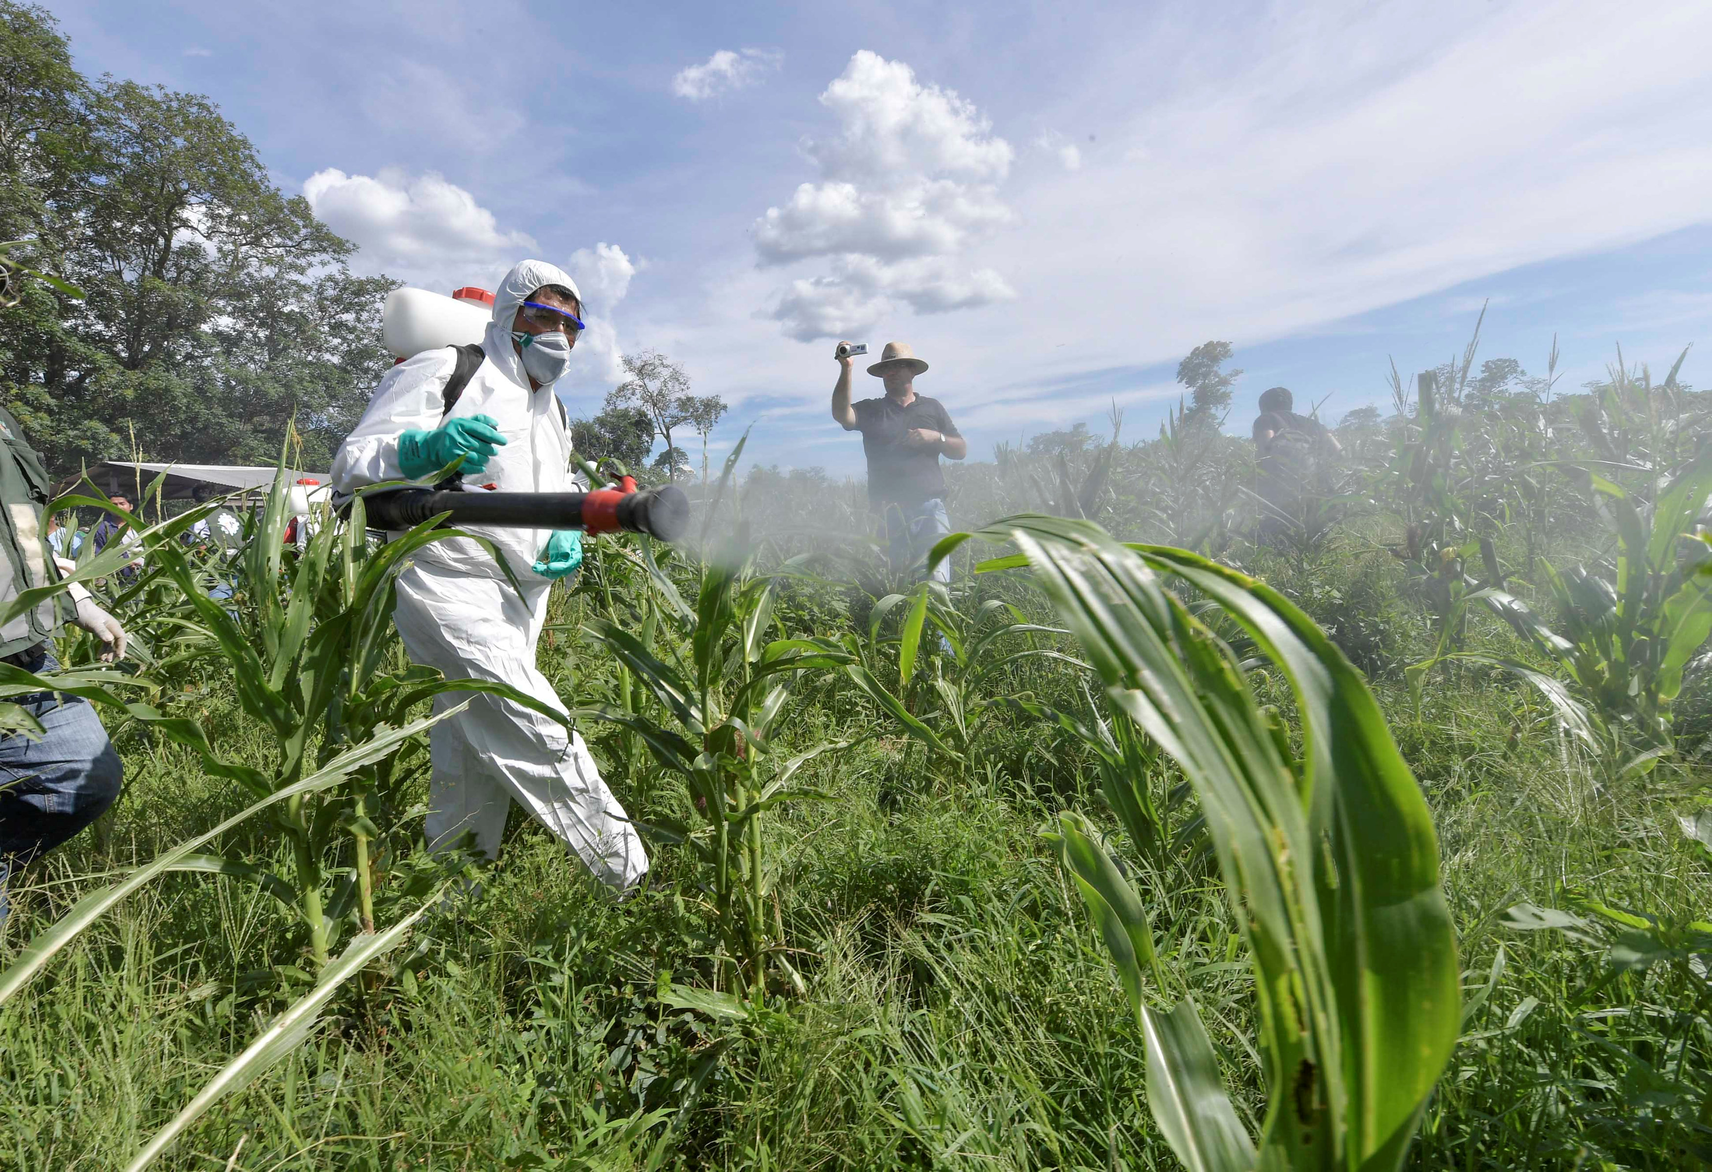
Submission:
[[[48,473],[24,428],[0,408],[0,603],[58,581],[43,512]],[[125,655],[125,629],[80,584],[0,625],[0,663],[43,675],[58,670],[53,636],[70,619],[104,644],[103,661]],[[123,766],[89,701],[60,692],[14,696],[41,725],[36,737],[0,735],[0,920],[17,867],[77,834],[118,797]]]

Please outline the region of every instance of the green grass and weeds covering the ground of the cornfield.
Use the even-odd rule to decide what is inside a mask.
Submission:
[[[1459,423],[1464,439],[1476,423],[1491,435],[1491,418],[1471,408]],[[1284,550],[1241,540],[1234,514],[1210,497],[1164,509],[1169,502],[1147,487],[1161,461],[1178,461],[1176,492],[1200,485],[1216,493],[1239,459],[1234,442],[1209,442],[1186,471],[1171,435],[1113,445],[1104,457],[1072,452],[1063,487],[1075,495],[1104,476],[1089,512],[1125,538],[1171,536],[1135,511],[1137,500],[1178,524],[1205,517],[1202,548],[1293,600],[1366,675],[1431,810],[1462,985],[1460,1038],[1404,1163],[1693,1167],[1712,1150],[1703,961],[1712,927],[1702,922],[1712,905],[1712,834],[1695,821],[1712,687],[1688,670],[1667,749],[1640,764],[1632,757],[1652,733],[1614,709],[1602,718],[1597,687],[1572,687],[1597,733],[1577,738],[1561,704],[1498,663],[1570,679],[1570,668],[1471,598],[1481,576],[1477,509],[1465,504],[1457,519],[1442,500],[1404,499],[1414,481],[1395,471],[1399,461],[1450,449],[1433,447],[1431,418],[1399,427],[1373,440],[1378,456],[1366,464],[1359,447],[1352,456],[1366,478],[1364,504]],[[1471,447],[1443,459],[1455,473],[1452,495],[1479,502],[1493,481],[1476,483]],[[1635,452],[1625,459],[1645,463]],[[1630,483],[1649,485],[1650,521],[1662,516],[1650,488],[1662,473],[1703,469],[1695,471],[1693,444],[1649,459],[1652,471]],[[1049,507],[1055,468],[1043,459],[1012,480],[1019,493],[1032,483],[1041,500],[991,488],[1007,483],[1002,466],[966,469],[959,517],[981,521],[1019,505],[1061,512]],[[1180,785],[1195,778],[1147,745],[1132,757],[1137,785],[1159,805],[1161,838],[1140,843],[1111,805],[1092,742],[1025,706],[1121,721],[1099,680],[1077,665],[1087,651],[1075,637],[1008,636],[1012,651],[1036,651],[1020,658],[988,651],[1000,646],[995,639],[981,672],[964,672],[938,646],[942,624],[960,634],[959,648],[972,646],[969,634],[998,613],[984,603],[1015,607],[1002,622],[1058,624],[1029,569],[971,574],[976,559],[1005,550],[969,557],[966,548],[950,598],[904,591],[877,607],[885,588],[846,572],[853,562],[835,557],[837,541],[803,533],[803,517],[851,512],[849,492],[818,485],[800,493],[789,505],[793,529],[769,476],[757,473],[741,497],[752,533],[769,540],[750,541],[741,557],[722,555],[750,565],[734,571],[738,617],[755,613],[765,593],[755,625],[769,639],[801,641],[791,653],[825,656],[781,673],[793,684],[770,716],[770,759],[834,749],[801,762],[794,797],[750,822],[753,855],[722,864],[728,874],[688,846],[656,840],[651,884],[615,905],[514,810],[505,855],[479,874],[479,889],[455,882],[438,898],[445,864],[419,848],[426,754],[423,738],[411,738],[389,757],[385,776],[361,774],[377,828],[363,848],[373,852],[375,924],[385,929],[426,905],[423,918],[397,949],[337,989],[301,1045],[214,1103],[156,1167],[1180,1167],[1149,1098],[1159,1085],[1121,973],[1043,836],[1070,810],[1092,819],[1145,906],[1157,968],[1144,999],[1157,1013],[1193,997],[1236,1117],[1248,1134],[1262,1133],[1282,1091],[1269,1083],[1248,927],[1233,915],[1229,874],[1197,821],[1197,790]],[[1513,579],[1508,589],[1553,619],[1544,572],[1525,577],[1522,565],[1549,559],[1563,571],[1585,562],[1597,572],[1599,559],[1616,557],[1618,538],[1597,528],[1566,476],[1546,493],[1556,512],[1541,509],[1537,531],[1524,531],[1512,509],[1484,533]],[[1633,495],[1640,500],[1642,490]],[[1423,553],[1433,540],[1442,547]],[[791,564],[791,555],[808,560]],[[1455,586],[1435,596],[1452,559]],[[770,577],[781,567],[786,576]],[[159,574],[154,584],[123,605],[158,651],[144,670],[161,689],[154,703],[200,721],[221,761],[284,776],[281,737],[245,708],[231,649],[207,644],[183,661],[168,653],[187,636],[151,622],[187,613],[188,603],[164,571],[151,572]],[[289,559],[286,572],[298,572]],[[1691,565],[1674,569],[1674,553],[1669,572],[1693,577]],[[717,574],[687,555],[651,579],[640,547],[601,547],[580,583],[555,595],[541,668],[572,706],[608,704],[633,721],[671,727],[635,658],[615,653],[601,624],[639,631],[671,660],[668,651],[690,648],[693,632],[661,579],[676,583],[693,610],[695,591],[705,600]],[[296,581],[300,589],[306,583]],[[1257,711],[1275,713],[1284,740],[1301,749],[1298,694],[1281,672],[1205,610],[1200,593],[1178,591],[1245,663],[1243,685],[1263,706]],[[265,622],[253,600],[240,608],[241,624]],[[745,646],[745,631],[731,627],[726,644]],[[839,648],[854,667],[832,661]],[[67,653],[72,663],[87,656],[75,646]],[[399,655],[387,646],[375,670],[402,672]],[[734,670],[729,661],[719,670]],[[745,663],[743,672],[758,672],[767,660]],[[1411,665],[1430,667],[1411,675]],[[685,660],[681,670],[695,665]],[[734,679],[716,673],[704,704],[726,703],[726,716],[741,709],[753,728],[762,718],[733,699]],[[1411,682],[1421,685],[1418,696]],[[895,696],[901,715],[875,687]],[[407,715],[425,711],[418,704]],[[161,725],[118,716],[108,725],[125,757],[125,797],[92,833],[15,882],[15,912],[0,929],[5,963],[75,896],[253,800]],[[695,831],[705,810],[693,785],[647,752],[640,723],[582,727],[637,819]],[[1601,740],[1606,733],[1614,740]],[[707,776],[733,786],[734,809],[753,805],[765,792],[758,759],[741,742],[719,749],[717,730],[705,735],[710,759],[724,762]],[[325,761],[317,747],[325,737],[317,725],[310,764]],[[317,860],[332,893],[325,918],[334,954],[360,937],[353,888],[339,882],[353,872],[353,841],[327,838]],[[291,841],[265,817],[228,831],[217,846],[229,860],[301,881]],[[0,1167],[125,1165],[312,989],[322,961],[305,906],[253,877],[168,874],[77,936],[0,1009]],[[758,951],[745,953],[753,941]],[[1340,1158],[1296,1167],[1358,1167]]]

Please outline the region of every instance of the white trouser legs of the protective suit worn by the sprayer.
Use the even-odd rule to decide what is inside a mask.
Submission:
[[[544,593],[527,605],[503,581],[445,574],[421,564],[401,574],[397,586],[394,619],[411,660],[438,668],[447,679],[510,684],[565,711],[534,665]],[[455,838],[462,829],[454,833],[454,828],[464,826],[476,831],[484,852],[498,853],[505,805],[493,797],[500,790],[563,840],[606,886],[621,891],[640,881],[647,872],[642,840],[601,780],[582,737],[567,737],[556,720],[496,696],[452,694],[445,703],[457,704],[466,696],[469,708],[430,733],[435,773],[430,841],[445,833]]]

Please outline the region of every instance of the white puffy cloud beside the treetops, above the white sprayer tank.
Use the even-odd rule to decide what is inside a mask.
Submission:
[[[346,175],[315,171],[303,195],[329,228],[358,245],[360,266],[449,291],[493,279],[534,250],[522,231],[505,231],[486,207],[440,175],[397,170]]]

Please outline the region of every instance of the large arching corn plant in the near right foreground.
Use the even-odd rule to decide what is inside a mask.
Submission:
[[[1361,673],[1281,595],[1185,550],[1032,516],[976,536],[1020,547],[981,569],[1032,567],[1109,703],[1181,766],[1248,942],[1267,1085],[1258,1138],[1193,997],[1161,1008],[1173,990],[1142,894],[1084,817],[1060,819],[1063,860],[1145,1033],[1149,1105],[1173,1151],[1195,1172],[1399,1167],[1455,1045],[1460,987],[1431,816]],[[1214,600],[1289,682],[1301,761],[1231,649],[1161,576]]]

